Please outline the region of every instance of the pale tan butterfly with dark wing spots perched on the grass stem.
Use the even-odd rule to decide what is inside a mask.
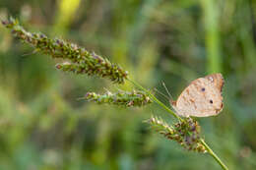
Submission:
[[[223,86],[222,74],[208,75],[193,81],[181,92],[176,101],[170,100],[170,103],[180,116],[215,116],[224,108]]]

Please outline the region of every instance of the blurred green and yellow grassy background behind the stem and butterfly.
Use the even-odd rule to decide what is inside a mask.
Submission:
[[[108,57],[150,89],[166,93],[163,81],[174,98],[190,81],[223,73],[224,111],[199,119],[203,137],[230,169],[256,169],[255,1],[1,0],[0,18],[8,15]],[[151,114],[173,121],[155,104],[78,101],[120,86],[63,74],[55,63],[0,26],[1,170],[221,169],[152,133],[143,123]]]

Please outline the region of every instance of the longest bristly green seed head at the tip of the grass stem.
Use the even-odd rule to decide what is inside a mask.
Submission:
[[[51,39],[42,33],[31,33],[19,25],[14,19],[2,21],[6,28],[11,28],[14,36],[23,42],[31,44],[36,50],[43,54],[51,55],[53,58],[69,60],[69,65],[58,64],[57,69],[75,74],[86,74],[107,78],[113,83],[123,84],[127,80],[128,72],[120,66],[109,62],[106,58],[90,53],[85,48],[75,43],[62,39]]]

